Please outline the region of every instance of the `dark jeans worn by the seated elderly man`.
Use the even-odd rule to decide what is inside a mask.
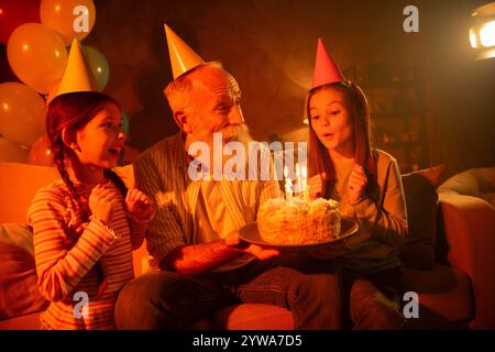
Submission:
[[[227,273],[150,273],[121,290],[116,324],[119,329],[187,329],[229,305],[261,302],[289,309],[296,329],[340,329],[339,279],[328,268],[315,273],[308,263],[304,254],[282,254]]]

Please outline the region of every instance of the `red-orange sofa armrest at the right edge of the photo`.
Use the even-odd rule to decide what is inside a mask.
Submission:
[[[454,193],[439,194],[448,261],[471,278],[475,299],[472,329],[495,328],[495,210],[486,201]]]

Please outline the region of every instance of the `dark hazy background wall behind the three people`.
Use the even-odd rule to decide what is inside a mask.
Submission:
[[[162,94],[172,79],[164,22],[238,78],[258,140],[304,128],[319,36],[343,70],[415,67],[427,81],[429,163],[452,174],[495,165],[495,59],[475,62],[468,40],[470,13],[483,2],[105,0],[85,42],[108,58],[107,92],[122,102],[141,150],[177,130]],[[419,33],[403,31],[407,4],[419,8]]]

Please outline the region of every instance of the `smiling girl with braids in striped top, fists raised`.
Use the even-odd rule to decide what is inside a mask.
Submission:
[[[62,179],[41,188],[28,213],[40,292],[51,301],[44,329],[114,329],[117,296],[133,278],[132,250],[154,215],[150,198],[112,170],[121,124],[119,103],[103,94],[68,92],[48,105]]]

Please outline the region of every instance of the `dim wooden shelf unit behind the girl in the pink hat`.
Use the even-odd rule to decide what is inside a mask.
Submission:
[[[403,173],[429,166],[427,119],[431,107],[425,94],[430,81],[417,67],[392,68],[386,63],[346,72],[370,101],[372,145],[395,154]]]

